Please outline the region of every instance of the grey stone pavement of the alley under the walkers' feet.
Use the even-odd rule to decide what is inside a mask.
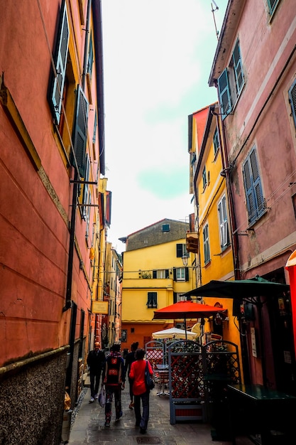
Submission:
[[[135,428],[133,409],[128,409],[130,402],[128,384],[122,392],[122,408],[124,415],[115,422],[112,414],[110,427],[104,427],[104,408],[99,406],[97,400],[89,403],[90,390],[84,388],[77,409],[73,410],[74,420],[70,429],[70,445],[102,444],[108,445],[136,445],[136,444],[162,444],[162,445],[231,445],[231,441],[213,441],[211,427],[201,422],[179,422],[170,424],[170,400],[168,396],[157,396],[154,389],[150,392],[150,419],[146,434],[140,434]],[[112,406],[114,412],[114,404]],[[65,436],[64,436],[65,439]],[[247,438],[236,439],[237,445],[251,445]]]

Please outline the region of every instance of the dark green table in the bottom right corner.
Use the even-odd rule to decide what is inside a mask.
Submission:
[[[248,434],[261,434],[262,445],[273,443],[273,434],[287,434],[290,441],[285,443],[296,443],[296,397],[262,385],[227,385],[227,392],[233,445],[238,425]]]

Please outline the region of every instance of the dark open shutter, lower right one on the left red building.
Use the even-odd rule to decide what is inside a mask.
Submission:
[[[87,148],[87,119],[89,103],[81,87],[77,86],[75,125],[73,128],[72,143],[74,147],[77,167],[82,178],[85,177],[85,153]],[[72,159],[72,165],[75,161]]]

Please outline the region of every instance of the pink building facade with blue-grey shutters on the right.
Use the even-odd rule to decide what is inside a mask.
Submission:
[[[209,85],[219,98],[236,279],[258,274],[289,284],[285,264],[296,247],[295,41],[294,1],[229,1]],[[263,296],[250,307],[241,323],[246,380],[295,393],[290,295]]]

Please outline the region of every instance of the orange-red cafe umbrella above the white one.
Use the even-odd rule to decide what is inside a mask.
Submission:
[[[167,318],[175,320],[175,318],[184,318],[186,331],[186,318],[209,318],[223,311],[225,311],[225,309],[209,306],[208,304],[194,303],[194,301],[178,301],[175,304],[154,311],[153,320],[165,320]]]

